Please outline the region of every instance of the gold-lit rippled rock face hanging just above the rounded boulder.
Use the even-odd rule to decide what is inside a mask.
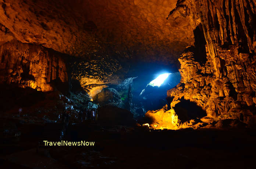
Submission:
[[[118,84],[122,80],[122,76],[116,73],[122,67],[115,59],[108,56],[96,58],[89,61],[74,62],[71,64],[72,78],[78,80],[81,87],[89,93],[93,98],[103,88],[108,87],[107,84]]]

